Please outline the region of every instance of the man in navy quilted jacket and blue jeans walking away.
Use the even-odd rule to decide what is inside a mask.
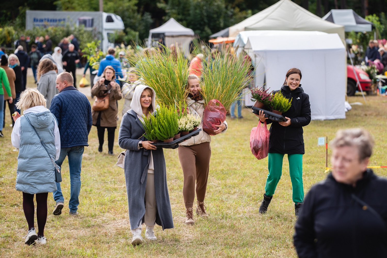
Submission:
[[[60,133],[60,156],[58,166],[62,166],[66,156],[70,172],[70,200],[68,208],[70,215],[78,214],[80,171],[82,155],[87,144],[92,125],[91,106],[89,99],[74,87],[74,79],[68,72],[60,73],[57,77],[59,93],[51,101],[50,111],[58,121]],[[56,202],[54,215],[62,214],[65,199],[63,198],[60,183],[57,191],[53,192]]]

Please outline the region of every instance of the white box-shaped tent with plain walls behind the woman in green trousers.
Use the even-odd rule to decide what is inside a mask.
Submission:
[[[286,39],[286,40],[285,40]],[[337,34],[249,37],[245,51],[255,62],[255,85],[278,90],[286,72],[299,68],[313,120],[345,118],[346,50]],[[246,96],[248,99],[250,96]],[[297,101],[293,99],[293,101]]]

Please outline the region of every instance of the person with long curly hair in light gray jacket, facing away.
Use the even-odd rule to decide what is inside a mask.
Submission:
[[[43,94],[47,101],[47,108],[50,108],[52,98],[59,93],[56,88],[57,72],[53,62],[46,58],[38,65],[38,91]]]

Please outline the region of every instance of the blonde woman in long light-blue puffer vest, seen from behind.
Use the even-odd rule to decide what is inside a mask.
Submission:
[[[27,219],[26,244],[46,244],[44,230],[47,220],[47,196],[57,190],[53,159],[60,155],[58,123],[46,100],[37,89],[21,93],[17,108],[23,116],[13,116],[15,125],[11,134],[12,145],[19,149],[17,156],[16,190],[23,193],[23,211]],[[47,150],[39,140],[38,132]],[[36,219],[39,232],[34,226],[34,195],[36,195]]]

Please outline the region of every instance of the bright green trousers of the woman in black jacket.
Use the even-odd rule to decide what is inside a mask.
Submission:
[[[282,175],[282,161],[284,154],[269,152],[269,174],[267,175],[265,194],[274,195],[279,179]],[[302,154],[288,154],[289,174],[293,188],[293,202],[304,202],[304,186],[302,183]]]

